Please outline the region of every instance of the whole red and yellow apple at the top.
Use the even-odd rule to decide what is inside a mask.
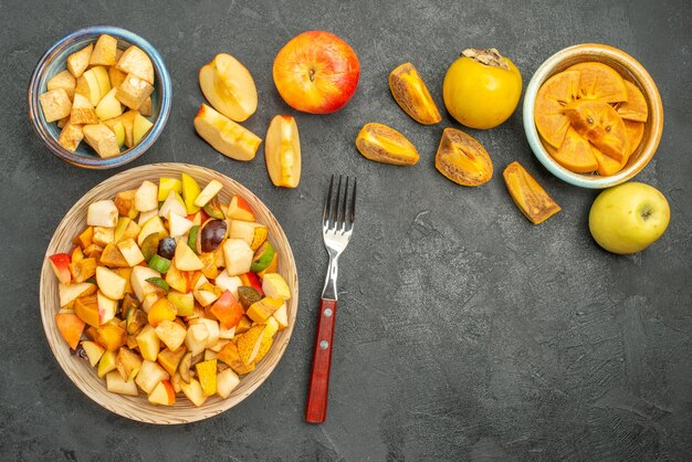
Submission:
[[[291,107],[329,114],[344,107],[356,93],[360,63],[338,36],[307,31],[279,51],[273,75],[276,90]]]

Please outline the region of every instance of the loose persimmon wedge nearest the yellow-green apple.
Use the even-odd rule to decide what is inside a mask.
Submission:
[[[502,176],[514,203],[532,223],[542,223],[562,210],[520,162],[510,164]]]

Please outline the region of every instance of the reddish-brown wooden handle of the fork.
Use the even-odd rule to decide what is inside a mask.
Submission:
[[[336,301],[322,298],[319,318],[317,319],[315,351],[313,354],[313,369],[310,375],[310,388],[307,390],[307,409],[305,411],[305,420],[311,423],[322,423],[327,418],[335,318]]]

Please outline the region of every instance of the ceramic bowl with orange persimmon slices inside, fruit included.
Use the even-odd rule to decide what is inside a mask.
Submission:
[[[602,44],[564,49],[535,72],[524,96],[524,129],[538,160],[583,188],[608,188],[651,160],[663,105],[647,70]]]

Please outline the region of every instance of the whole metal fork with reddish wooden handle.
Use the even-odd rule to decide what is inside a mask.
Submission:
[[[348,182],[349,178],[346,177],[346,186],[342,197],[342,176],[339,175],[338,185],[336,186],[336,199],[333,200],[334,175],[332,175],[327,199],[322,213],[322,234],[324,246],[329,254],[329,266],[319,302],[317,337],[315,339],[313,369],[307,391],[305,420],[311,423],[322,423],[327,417],[329,368],[332,367],[332,344],[336,317],[338,258],[346,249],[346,245],[348,245],[354,230],[354,217],[356,213],[356,179],[354,178],[353,180],[350,200],[348,200]]]

